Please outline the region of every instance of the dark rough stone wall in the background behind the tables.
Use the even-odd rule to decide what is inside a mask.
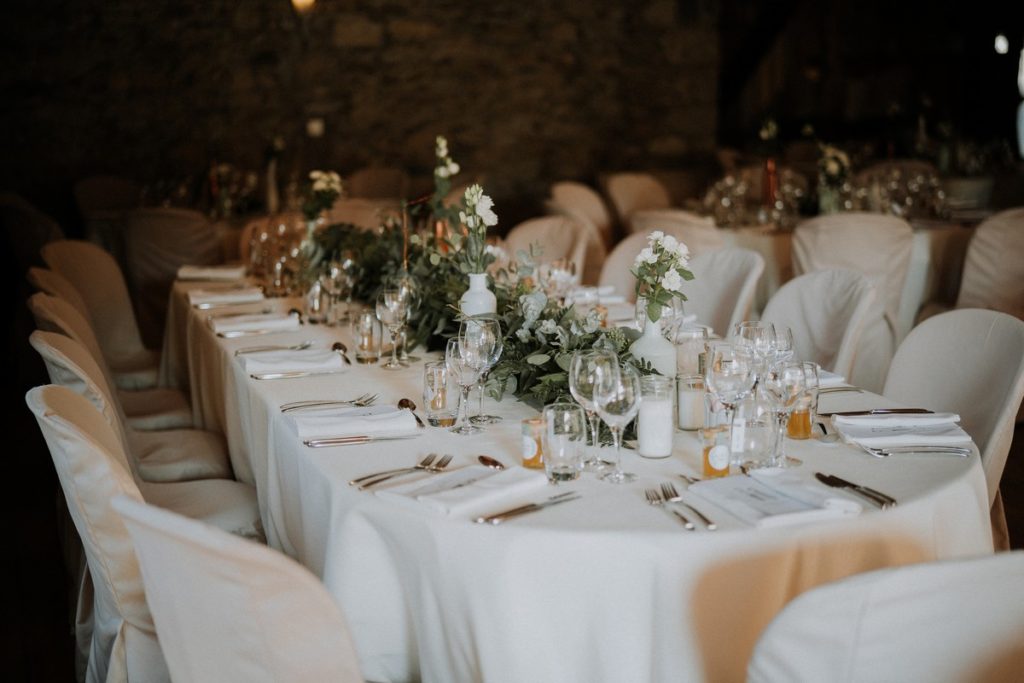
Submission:
[[[78,177],[258,168],[275,135],[287,171],[426,178],[444,133],[518,218],[552,180],[714,148],[717,7],[319,0],[300,17],[287,0],[8,0],[0,188],[60,214]]]

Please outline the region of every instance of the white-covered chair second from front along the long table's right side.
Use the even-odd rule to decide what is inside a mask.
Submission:
[[[849,377],[874,300],[874,288],[853,270],[817,270],[783,285],[761,319],[793,331],[796,357]]]

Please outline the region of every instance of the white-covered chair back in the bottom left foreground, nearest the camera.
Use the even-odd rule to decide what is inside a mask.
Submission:
[[[344,616],[305,567],[128,497],[114,508],[174,680],[362,681]]]

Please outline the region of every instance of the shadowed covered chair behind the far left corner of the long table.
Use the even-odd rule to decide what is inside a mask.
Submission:
[[[125,267],[142,339],[151,347],[164,338],[171,286],[182,265],[224,260],[223,239],[198,211],[136,209],[125,216]]]

